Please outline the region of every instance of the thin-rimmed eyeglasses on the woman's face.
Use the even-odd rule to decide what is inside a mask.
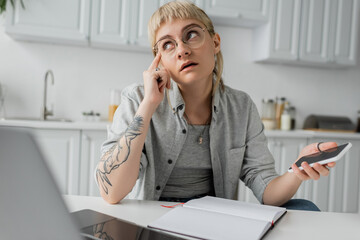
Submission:
[[[192,49],[199,48],[205,42],[205,29],[200,26],[190,27],[183,32],[181,41]],[[157,41],[153,50],[156,54],[161,53],[161,56],[173,57],[177,47],[178,43],[174,39],[166,37]]]

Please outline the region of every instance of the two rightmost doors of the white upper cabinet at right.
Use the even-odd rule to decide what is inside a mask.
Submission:
[[[303,0],[299,59],[355,65],[359,1]]]

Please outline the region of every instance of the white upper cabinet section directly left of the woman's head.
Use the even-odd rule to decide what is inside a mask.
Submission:
[[[149,51],[147,23],[156,0],[93,0],[90,45]]]

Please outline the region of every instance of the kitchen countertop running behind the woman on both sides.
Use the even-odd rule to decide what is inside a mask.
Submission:
[[[11,127],[29,127],[37,129],[71,129],[71,130],[107,130],[107,126],[110,126],[111,122],[61,122],[61,121],[28,121],[28,120],[0,120],[0,126]],[[318,132],[309,130],[293,130],[293,131],[281,131],[281,130],[265,130],[265,135],[271,137],[284,137],[284,138],[344,138],[344,139],[359,139],[359,133],[346,133],[346,132]]]

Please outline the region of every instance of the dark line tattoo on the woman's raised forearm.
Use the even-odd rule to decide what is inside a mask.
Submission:
[[[107,175],[128,160],[131,151],[131,141],[141,135],[140,130],[142,126],[143,117],[138,115],[135,116],[125,132],[120,135],[119,141],[101,158],[96,170],[96,178],[99,186],[103,188],[106,194],[108,194],[108,186],[112,186]],[[120,141],[125,141],[126,147],[121,147]]]

